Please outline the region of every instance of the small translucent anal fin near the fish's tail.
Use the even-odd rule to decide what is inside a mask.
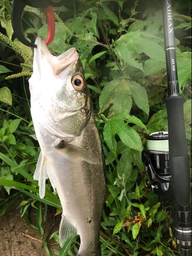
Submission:
[[[59,227],[60,246],[70,237],[76,236],[77,229],[62,215]]]

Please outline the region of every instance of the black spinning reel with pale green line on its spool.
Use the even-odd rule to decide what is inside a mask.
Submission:
[[[152,181],[152,191],[158,194],[161,204],[170,207],[173,202],[173,186],[169,168],[168,133],[155,132],[146,139],[147,149],[142,151],[146,174]]]

